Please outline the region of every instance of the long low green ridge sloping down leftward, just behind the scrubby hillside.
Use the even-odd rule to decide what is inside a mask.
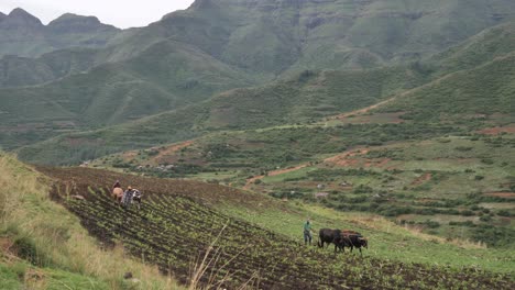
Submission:
[[[53,163],[61,155],[58,163],[68,164],[106,153],[176,142],[211,131],[313,122],[373,104],[423,82],[424,75],[403,67],[306,71],[294,79],[231,90],[201,103],[131,123],[61,136],[23,148],[20,156],[30,161]]]

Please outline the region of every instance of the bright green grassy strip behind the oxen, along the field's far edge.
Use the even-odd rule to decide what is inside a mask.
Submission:
[[[224,211],[256,223],[262,227],[302,241],[302,225],[311,219],[314,228],[351,228],[369,238],[364,255],[405,263],[423,263],[439,267],[478,267],[498,272],[513,272],[513,249],[460,247],[446,244],[437,237],[424,236],[399,227],[392,222],[359,212],[337,212],[316,205],[284,205],[277,209],[240,209],[224,207]],[[316,236],[316,235],[315,235]]]

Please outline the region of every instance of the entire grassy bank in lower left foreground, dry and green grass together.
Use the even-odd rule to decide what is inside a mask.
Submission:
[[[0,289],[180,289],[121,247],[102,250],[74,214],[50,200],[46,183],[0,153]]]

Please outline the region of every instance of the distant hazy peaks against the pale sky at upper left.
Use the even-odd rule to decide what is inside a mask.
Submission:
[[[9,15],[0,16],[0,57],[37,57],[74,46],[105,47],[119,32],[96,18],[74,14],[65,14],[45,26],[37,18],[18,8]]]

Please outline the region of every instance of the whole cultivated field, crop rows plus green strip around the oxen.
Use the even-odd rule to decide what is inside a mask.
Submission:
[[[509,272],[509,267],[498,260],[502,252],[435,242],[373,216],[335,215],[196,181],[149,179],[84,168],[40,170],[55,180],[52,197],[77,214],[94,236],[106,245],[119,241],[132,255],[144,256],[146,261],[158,265],[165,272],[172,271],[180,281],[187,279],[190,263],[206,255],[213,259],[207,267],[207,272],[212,274],[201,281],[220,280],[226,287],[248,282],[278,289],[299,285],[336,289],[379,286],[430,289],[458,285],[509,288],[512,283],[504,275],[496,274],[497,278],[492,279],[491,272],[481,270],[483,266],[471,263],[471,258],[482,257],[489,260],[483,264],[486,268]],[[123,210],[112,203],[107,190],[116,179],[143,190],[145,200],[141,210]],[[80,194],[85,200],[67,198],[73,194]],[[333,259],[331,250],[299,245],[297,230],[305,214],[311,215],[317,226],[350,227],[364,233],[371,243],[370,252],[364,249],[363,258],[346,254]],[[131,226],[124,220],[131,221]],[[398,241],[403,241],[402,246],[396,245]],[[211,252],[206,252],[210,244]],[[446,255],[448,258],[443,258]],[[429,259],[412,264],[423,256]],[[322,263],[327,259],[332,260],[329,268]],[[450,268],[429,266],[434,263],[449,263]],[[478,274],[470,276],[471,269],[464,268],[456,271],[457,267],[471,264],[479,267],[473,270]],[[383,265],[381,270],[379,265]],[[409,270],[399,271],[399,267]],[[309,271],[296,275],[308,268]],[[390,275],[385,274],[390,272],[396,279],[387,278]],[[435,277],[445,279],[435,280]]]

